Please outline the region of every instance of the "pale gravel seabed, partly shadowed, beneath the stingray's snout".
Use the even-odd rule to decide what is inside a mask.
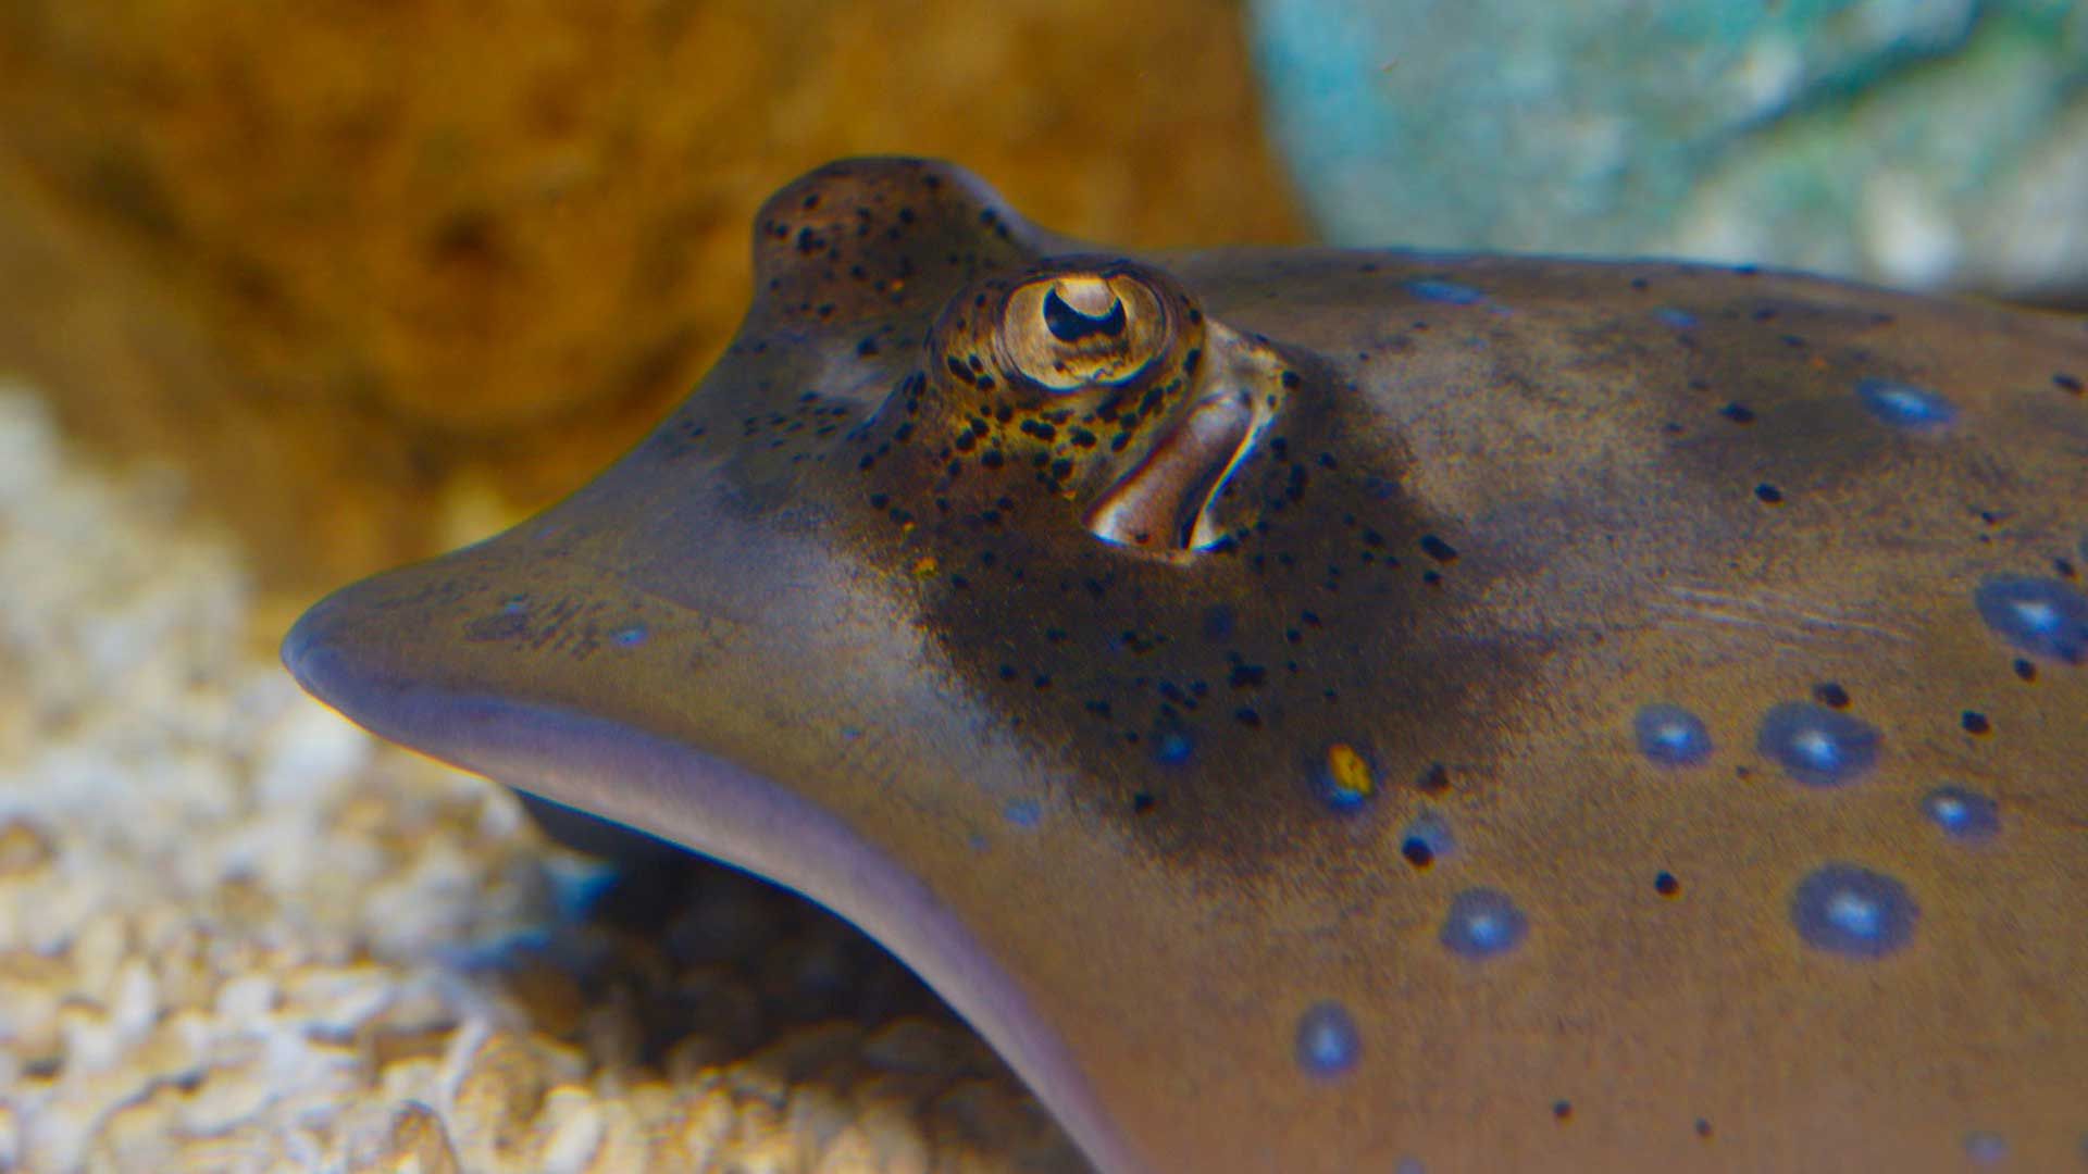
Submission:
[[[0,384],[0,1172],[1082,1168],[858,934],[549,848],[253,608],[175,476]]]

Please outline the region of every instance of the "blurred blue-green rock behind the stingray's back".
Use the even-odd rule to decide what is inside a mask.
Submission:
[[[2088,286],[2073,0],[1251,0],[1328,238]]]

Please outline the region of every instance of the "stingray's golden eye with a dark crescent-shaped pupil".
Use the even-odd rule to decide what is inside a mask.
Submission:
[[[1000,315],[1009,370],[1054,393],[1132,380],[1165,349],[1167,311],[1128,274],[1038,278]]]

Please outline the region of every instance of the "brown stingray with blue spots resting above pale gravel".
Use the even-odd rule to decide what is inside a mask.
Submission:
[[[854,919],[1102,1170],[2082,1161],[2082,322],[1130,257],[919,161],[756,261],[299,679]]]

